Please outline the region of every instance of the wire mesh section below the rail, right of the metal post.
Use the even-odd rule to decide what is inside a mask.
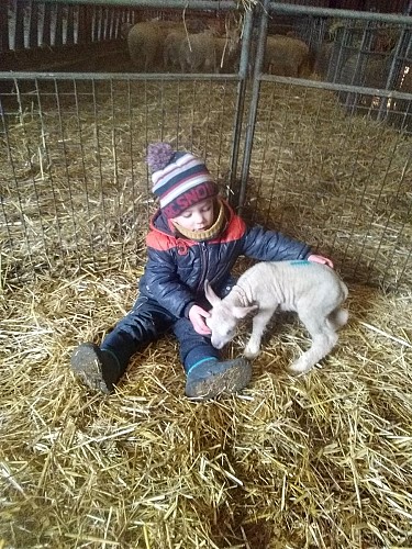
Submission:
[[[245,212],[334,257],[349,279],[409,280],[411,141],[347,116],[336,94],[260,90]]]

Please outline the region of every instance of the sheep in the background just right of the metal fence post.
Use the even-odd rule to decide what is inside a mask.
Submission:
[[[307,78],[313,63],[309,46],[292,36],[275,34],[266,40],[264,71],[277,76]]]

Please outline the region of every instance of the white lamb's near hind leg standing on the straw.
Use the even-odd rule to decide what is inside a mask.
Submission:
[[[308,372],[316,362],[331,352],[337,343],[336,332],[330,327],[326,317],[316,316],[316,311],[300,314],[299,317],[312,337],[312,346],[289,367],[290,373]]]

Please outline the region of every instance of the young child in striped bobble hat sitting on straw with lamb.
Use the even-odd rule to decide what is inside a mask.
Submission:
[[[240,256],[259,261],[308,259],[333,267],[332,261],[281,233],[247,227],[219,197],[205,165],[192,154],[174,152],[167,143],[149,145],[147,153],[160,208],[146,238],[148,258],[140,295],[100,347],[83,343],[75,348],[71,369],[91,389],[109,393],[131,357],[171,329],[180,346],[187,396],[211,399],[240,391],[250,380],[250,363],[243,357],[222,360],[212,347],[204,281],[218,295],[226,294]]]

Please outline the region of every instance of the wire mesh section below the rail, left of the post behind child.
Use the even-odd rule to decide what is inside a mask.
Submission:
[[[147,143],[229,170],[235,81],[15,80],[2,114],[1,255],[8,278],[134,262],[154,210]]]

